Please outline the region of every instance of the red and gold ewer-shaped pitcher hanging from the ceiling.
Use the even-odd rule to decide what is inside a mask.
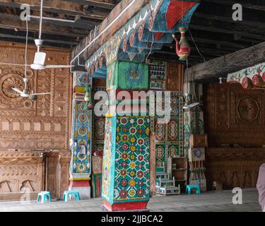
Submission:
[[[179,28],[179,32],[181,33],[180,41],[178,41],[177,37],[172,34],[176,42],[176,53],[177,56],[179,56],[179,61],[186,61],[191,53],[191,47],[189,47],[189,43],[186,39],[186,28]]]

